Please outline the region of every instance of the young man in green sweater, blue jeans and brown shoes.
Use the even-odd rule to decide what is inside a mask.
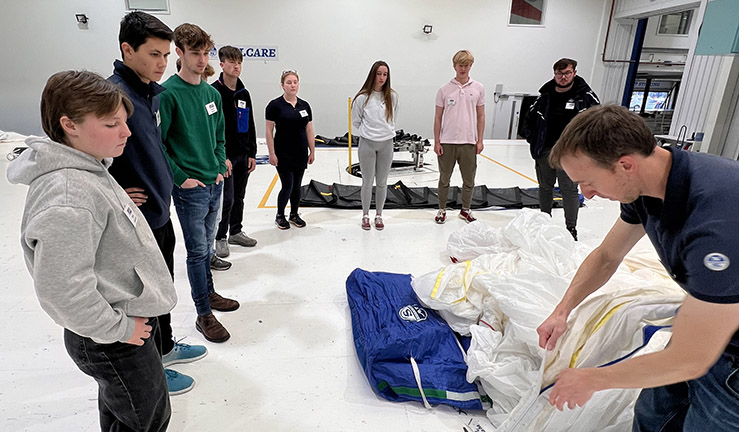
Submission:
[[[200,27],[182,24],[174,30],[174,43],[182,68],[163,83],[162,142],[187,249],[187,277],[198,313],[195,328],[211,342],[225,342],[231,335],[212,309],[233,311],[239,303],[215,292],[210,269],[223,177],[230,174],[221,96],[201,78],[213,40]]]

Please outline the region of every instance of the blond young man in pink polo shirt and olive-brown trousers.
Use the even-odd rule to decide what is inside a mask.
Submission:
[[[485,89],[470,78],[475,58],[467,50],[452,57],[457,75],[436,93],[434,116],[434,153],[439,159],[439,212],[434,220],[446,222],[446,204],[449,179],[455,163],[462,174],[462,211],[459,217],[466,222],[475,218],[470,211],[472,189],[475,187],[477,155],[482,152],[482,134],[485,131]]]

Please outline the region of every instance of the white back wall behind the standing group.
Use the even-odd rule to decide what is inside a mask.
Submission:
[[[105,76],[120,56],[118,23],[123,0],[24,0],[0,6],[0,130],[41,132],[38,103],[54,72],[84,68]],[[171,15],[160,19],[174,28],[193,22],[217,44],[275,45],[278,62],[245,62],[243,80],[252,93],[258,135],[263,109],[281,94],[280,71],[295,68],[300,96],[315,113],[316,133],[346,131],[347,98],[354,96],[372,62],[386,60],[400,94],[399,128],[432,135],[434,97],[454,75],[451,56],[469,49],[476,57],[473,78],[505,92],[536,92],[551,78],[560,57],[578,60],[586,80],[602,74],[599,54],[604,13],[610,0],[549,1],[545,26],[507,26],[509,1],[468,0],[171,0]],[[90,18],[80,30],[75,13]],[[432,37],[421,28],[434,26]],[[172,61],[165,78],[174,73]],[[214,64],[216,70],[218,65]],[[595,91],[599,89],[594,87]],[[492,107],[492,105],[490,105]],[[492,131],[489,109],[486,137]]]

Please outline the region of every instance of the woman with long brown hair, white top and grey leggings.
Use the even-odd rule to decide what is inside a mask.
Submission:
[[[390,86],[390,67],[376,61],[352,102],[352,128],[359,135],[359,168],[362,171],[362,229],[369,230],[372,183],[375,191],[375,228],[382,230],[382,208],[387,197],[387,176],[393,164],[395,115],[398,94]]]

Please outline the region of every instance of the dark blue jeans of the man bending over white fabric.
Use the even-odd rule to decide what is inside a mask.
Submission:
[[[632,431],[739,431],[739,357],[723,353],[701,378],[642,390]]]

